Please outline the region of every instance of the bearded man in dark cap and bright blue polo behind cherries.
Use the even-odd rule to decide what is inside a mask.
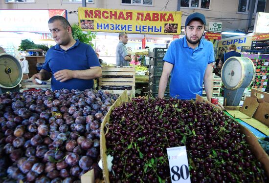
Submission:
[[[164,96],[169,75],[170,97],[190,100],[202,96],[202,83],[207,100],[212,98],[214,62],[213,44],[202,39],[206,20],[203,14],[193,13],[185,22],[185,37],[172,41],[163,58],[158,97]]]

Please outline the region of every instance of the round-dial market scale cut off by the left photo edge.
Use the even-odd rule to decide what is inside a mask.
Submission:
[[[15,57],[0,54],[0,94],[7,91],[20,91],[22,81],[22,65]]]

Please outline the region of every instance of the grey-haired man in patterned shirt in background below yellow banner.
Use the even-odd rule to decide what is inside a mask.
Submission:
[[[116,66],[129,66],[131,59],[131,54],[126,49],[126,44],[128,42],[128,35],[126,32],[119,33],[119,43],[116,48]]]

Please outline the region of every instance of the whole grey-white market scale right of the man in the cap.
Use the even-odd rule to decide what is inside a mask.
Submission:
[[[245,88],[255,77],[255,66],[247,57],[230,57],[222,68],[224,105],[238,106]]]

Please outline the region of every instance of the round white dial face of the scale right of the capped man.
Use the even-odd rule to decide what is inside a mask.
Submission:
[[[227,89],[236,89],[242,83],[243,68],[238,60],[227,62],[222,70],[222,78],[224,86]],[[241,81],[241,82],[240,82]]]

